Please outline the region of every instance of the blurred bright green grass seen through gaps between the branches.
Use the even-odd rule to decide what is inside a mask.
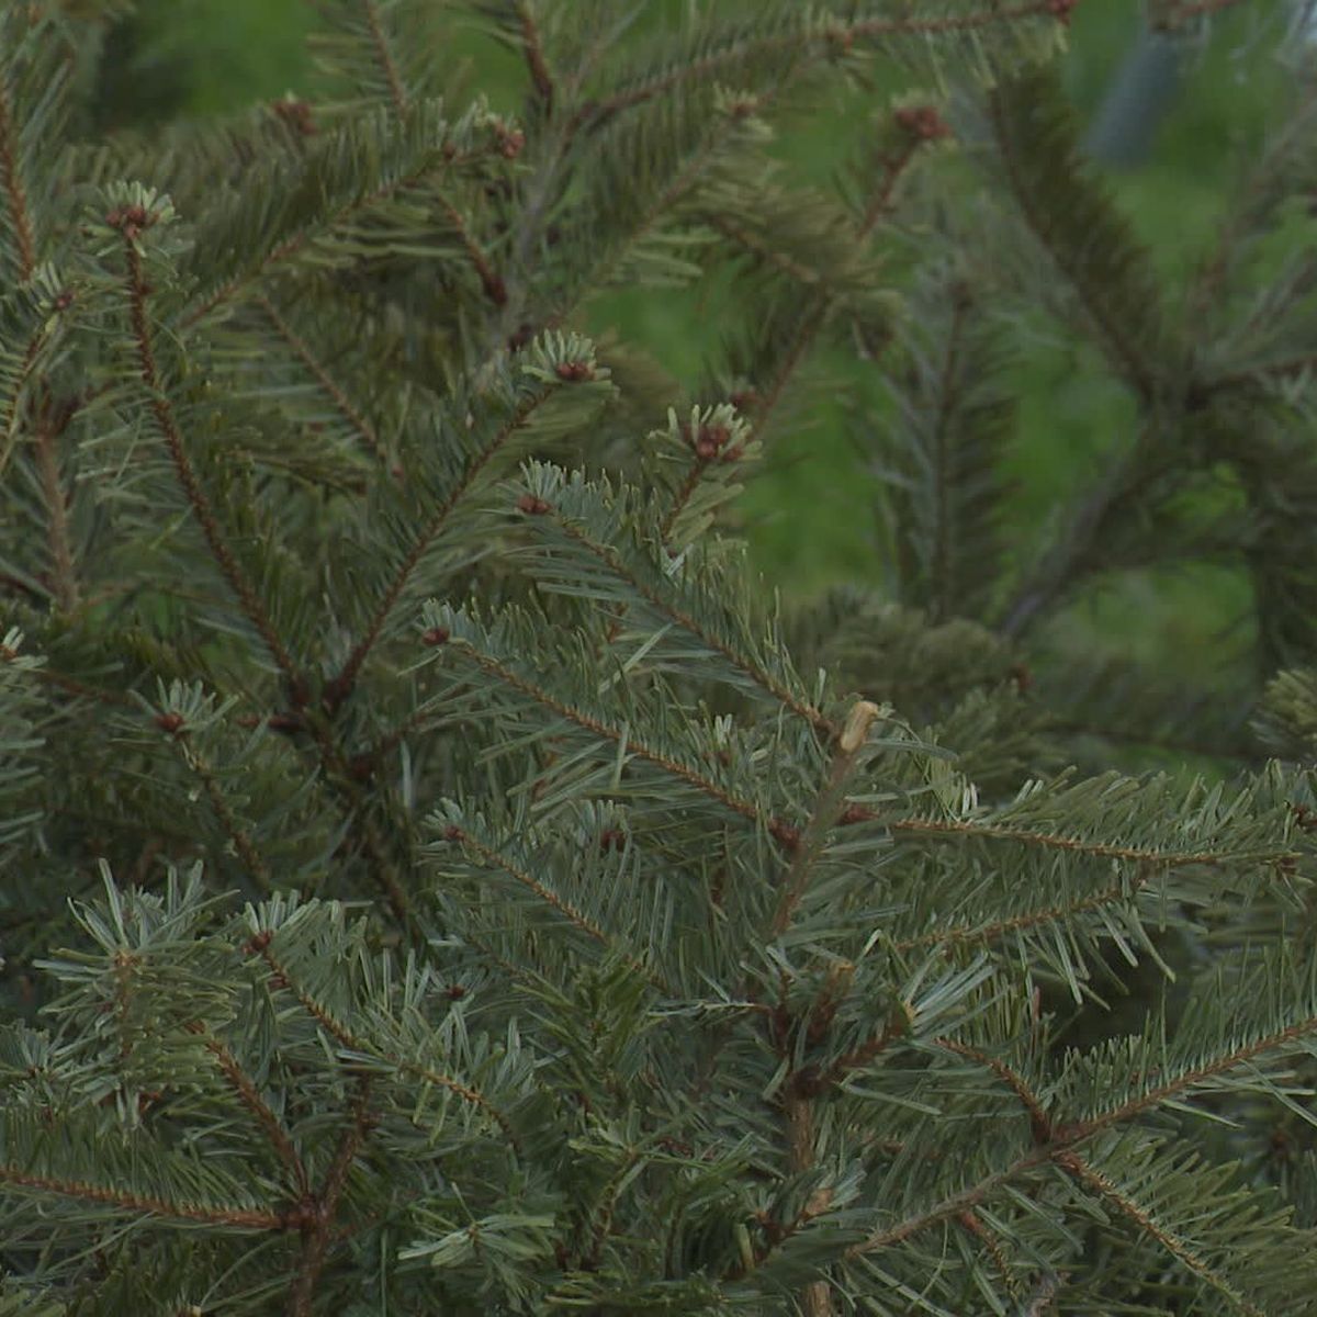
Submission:
[[[684,0],[651,0],[647,21],[658,22]],[[1209,249],[1239,169],[1260,142],[1292,74],[1277,59],[1283,0],[1246,3],[1223,13],[1210,34],[1180,61],[1169,112],[1138,167],[1108,169],[1112,188],[1168,277],[1183,274]],[[1263,20],[1263,21],[1259,21]],[[1277,21],[1280,20],[1280,21]],[[169,115],[216,116],[254,100],[313,91],[306,37],[316,14],[300,0],[141,0],[112,32],[103,75],[107,126],[149,125]],[[1065,78],[1084,120],[1106,91],[1141,30],[1138,0],[1087,0],[1075,12]],[[471,84],[498,108],[515,111],[523,92],[520,61],[471,32],[453,58],[475,62]],[[855,116],[859,119],[859,116]],[[860,120],[863,122],[863,120]],[[805,175],[826,182],[847,141],[838,120],[788,128],[781,153]],[[611,294],[590,308],[593,331],[615,325],[647,344],[687,385],[716,327],[693,296]],[[853,360],[814,363],[853,374]],[[1129,425],[1130,406],[1090,348],[1030,340],[1015,369],[1019,443],[1011,474],[1019,479],[1013,508],[1018,533],[1031,536],[1046,510],[1084,478],[1110,437]],[[809,424],[777,443],[773,460],[743,502],[744,528],[765,574],[788,595],[840,579],[876,579],[872,485],[844,414],[823,391],[805,411]],[[1084,605],[1087,627],[1119,635],[1135,657],[1164,661],[1179,651],[1204,674],[1202,656],[1247,614],[1247,587],[1227,570],[1191,570],[1169,582],[1131,576]],[[1083,611],[1083,610],[1081,610]],[[1147,651],[1141,653],[1139,651]]]

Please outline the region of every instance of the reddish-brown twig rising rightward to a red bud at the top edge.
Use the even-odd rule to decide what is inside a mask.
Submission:
[[[963,14],[948,14],[942,18],[852,18],[828,16],[823,24],[806,20],[799,28],[769,37],[747,37],[735,30],[707,54],[681,65],[637,86],[615,91],[593,104],[577,111],[577,119],[595,128],[623,109],[641,105],[656,96],[662,96],[685,82],[707,83],[718,76],[727,65],[740,63],[755,55],[766,54],[807,54],[823,58],[839,47],[848,49],[857,41],[882,41],[892,37],[947,37],[959,33],[981,32],[997,25],[1019,22],[1025,18],[1052,17],[1064,21],[1071,8],[1079,0],[1027,0],[1023,4],[993,4],[990,8],[971,11]]]

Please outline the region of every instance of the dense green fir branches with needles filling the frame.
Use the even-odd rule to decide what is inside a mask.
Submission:
[[[1309,271],[1274,353],[1239,308],[1312,162],[1192,338],[1073,151],[1072,8],[331,0],[324,99],[101,138],[122,5],[5,7],[0,1313],[1312,1310]],[[959,108],[785,183],[773,124],[894,70]],[[952,120],[996,287],[906,190]],[[583,333],[705,279],[703,383]],[[1010,295],[1139,415],[1036,564]],[[894,399],[897,590],[784,618],[720,527],[820,341]],[[1256,582],[1229,782],[1065,769],[1019,666],[1159,516]]]

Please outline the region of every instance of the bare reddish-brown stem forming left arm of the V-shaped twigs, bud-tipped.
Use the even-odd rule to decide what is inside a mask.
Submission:
[[[292,657],[283,648],[283,641],[275,633],[274,626],[265,607],[261,605],[255,590],[242,574],[242,569],[224,540],[224,533],[220,529],[215,511],[202,489],[202,483],[183,446],[183,436],[174,417],[174,408],[170,404],[169,394],[165,391],[159,371],[155,367],[155,350],[151,342],[151,327],[146,312],[146,275],[137,248],[137,234],[142,228],[153,223],[153,219],[141,207],[125,207],[107,216],[111,227],[117,228],[124,236],[124,253],[128,263],[129,313],[137,348],[138,370],[142,383],[146,386],[148,398],[150,399],[150,411],[155,417],[155,425],[159,429],[161,437],[165,440],[165,446],[169,449],[170,460],[174,464],[179,485],[183,487],[187,502],[192,508],[192,515],[196,518],[202,533],[205,536],[211,556],[219,565],[229,587],[237,595],[242,611],[265,641],[270,657],[274,658],[284,677],[295,684],[299,678]]]

